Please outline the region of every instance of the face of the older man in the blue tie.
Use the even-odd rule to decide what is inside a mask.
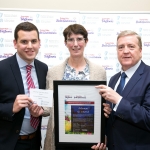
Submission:
[[[117,41],[117,55],[124,71],[133,67],[142,57],[136,35],[120,37]]]

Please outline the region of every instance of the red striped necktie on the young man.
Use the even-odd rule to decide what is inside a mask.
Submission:
[[[31,69],[32,66],[31,65],[27,65],[26,66],[26,70],[27,70],[27,84],[28,84],[28,91],[30,90],[30,88],[35,88],[34,82],[31,78]],[[31,115],[31,119],[30,119],[30,124],[33,128],[37,128],[37,126],[39,125],[39,117],[33,117]]]

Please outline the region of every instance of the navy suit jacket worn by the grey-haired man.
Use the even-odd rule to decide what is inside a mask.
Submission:
[[[114,89],[120,73],[109,86]],[[109,150],[150,149],[150,67],[141,62],[122,92],[117,111],[107,120]]]

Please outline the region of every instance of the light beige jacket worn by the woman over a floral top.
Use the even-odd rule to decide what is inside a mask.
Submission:
[[[106,81],[106,72],[104,68],[90,62],[88,59],[85,60],[89,64],[90,80]],[[53,80],[62,80],[67,61],[68,58],[62,64],[49,69],[46,80],[47,89],[53,89]],[[47,126],[44,150],[55,150],[54,136],[54,107],[52,107]]]

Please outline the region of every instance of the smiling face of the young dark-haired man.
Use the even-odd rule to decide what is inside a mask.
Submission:
[[[37,31],[20,30],[17,41],[14,40],[14,47],[17,49],[18,55],[30,64],[35,59],[40,48]]]

